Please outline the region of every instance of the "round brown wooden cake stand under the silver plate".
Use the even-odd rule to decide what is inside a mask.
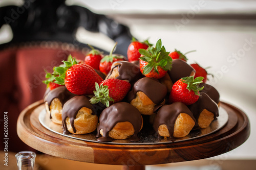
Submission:
[[[240,109],[221,102],[228,113],[227,124],[204,137],[165,144],[122,145],[88,142],[56,134],[43,127],[38,115],[45,109],[38,101],[20,113],[17,134],[40,152],[82,162],[123,165],[123,169],[145,169],[145,165],[198,160],[231,151],[249,137],[250,123]]]

